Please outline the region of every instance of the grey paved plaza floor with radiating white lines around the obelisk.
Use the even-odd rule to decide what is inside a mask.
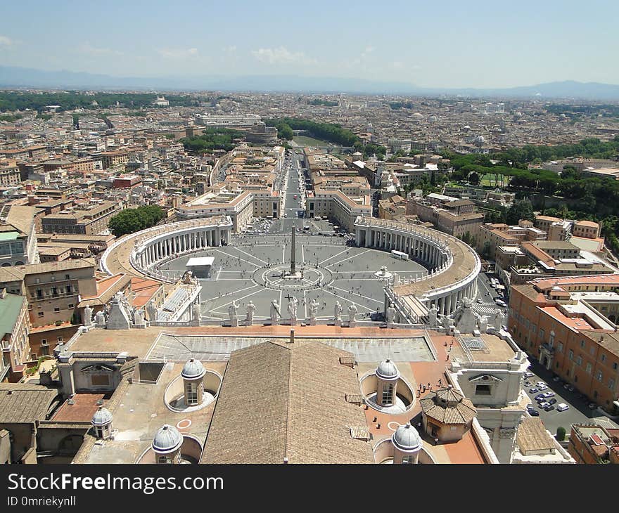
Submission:
[[[210,278],[200,280],[204,320],[229,318],[232,301],[238,305],[238,318],[245,317],[245,306],[256,306],[254,322],[270,319],[270,306],[276,299],[281,318],[289,318],[288,301],[298,301],[298,320],[309,319],[309,303],[318,301],[317,320],[333,319],[336,301],[343,308],[355,304],[357,320],[376,320],[383,312],[384,283],[376,273],[386,266],[402,280],[426,275],[421,264],[391,257],[389,252],[345,245],[342,238],[296,234],[296,278],[290,271],[291,234],[245,235],[233,238],[230,246],[214,247],[191,256],[174,259],[160,271],[180,277],[190,257],[215,259]]]

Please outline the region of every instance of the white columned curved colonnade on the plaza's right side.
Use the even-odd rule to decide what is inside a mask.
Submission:
[[[385,299],[409,323],[419,322],[419,303],[449,315],[458,301],[477,294],[481,261],[473,248],[452,235],[374,217],[357,217],[355,235],[359,246],[395,249],[428,266],[427,276],[385,287]]]

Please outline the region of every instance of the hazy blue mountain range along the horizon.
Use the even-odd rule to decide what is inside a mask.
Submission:
[[[619,85],[598,82],[549,82],[505,89],[424,88],[405,82],[378,82],[336,77],[249,75],[244,77],[110,77],[72,71],[44,71],[0,66],[1,87],[141,89],[157,91],[261,91],[298,93],[366,93],[477,98],[565,98],[619,100]]]

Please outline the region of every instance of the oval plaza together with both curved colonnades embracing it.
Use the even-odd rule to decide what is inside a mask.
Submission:
[[[268,304],[272,296],[279,301],[277,306],[281,308],[284,298],[288,297],[288,301],[291,301],[289,291],[311,290],[314,293],[313,296],[309,294],[300,298],[305,305],[300,319],[304,316],[309,319],[310,301],[314,301],[314,298],[321,301],[321,297],[328,294],[328,287],[333,287],[336,296],[337,291],[341,291],[337,302],[341,303],[340,309],[344,311],[348,303],[343,292],[347,292],[345,287],[350,285],[351,278],[365,278],[368,282],[371,280],[376,283],[373,289],[353,294],[354,299],[350,300],[357,305],[354,308],[360,310],[361,320],[367,316],[366,320],[416,325],[427,320],[430,309],[435,308],[438,313],[449,315],[457,308],[459,301],[476,295],[476,277],[480,271],[477,254],[457,238],[430,228],[359,216],[355,221],[355,244],[348,247],[330,238],[321,240],[308,236],[293,245],[293,240],[286,237],[286,234],[272,237],[272,242],[264,242],[258,237],[234,235],[233,238],[233,223],[229,216],[179,221],[148,228],[118,240],[103,255],[101,267],[110,274],[125,272],[143,275],[164,283],[175,283],[184,271],[191,270],[196,278],[211,280],[203,281],[203,285],[208,283],[204,295],[217,285],[213,281],[215,278],[210,275],[211,268],[224,271],[214,273],[219,278],[225,277],[226,272],[232,273],[226,271],[222,261],[227,263],[233,258],[229,256],[230,252],[238,249],[239,253],[234,258],[238,259],[239,255],[243,257],[245,254],[247,257],[243,258],[247,261],[244,264],[250,264],[246,269],[238,271],[239,286],[242,285],[243,290],[250,289],[248,294],[258,294],[255,299],[258,299],[259,306],[261,301]],[[260,253],[261,246],[264,251],[270,251],[272,248],[269,246],[274,245],[281,245],[285,249],[279,261],[267,257],[266,252]],[[325,246],[333,248],[331,253],[322,261],[318,257],[312,261],[309,251],[313,251],[313,254],[324,252]],[[342,260],[342,263],[338,263],[340,257],[336,255],[343,254],[344,250],[345,257],[350,257],[350,261]],[[363,258],[366,268],[355,268],[357,263],[354,259],[366,250],[371,250],[371,253],[357,260],[359,262]],[[390,258],[390,252],[394,250],[407,255],[409,259],[397,261]],[[290,261],[295,260],[295,255],[296,271],[301,272],[290,273],[288,268]],[[224,260],[226,258],[229,260]],[[197,264],[197,267],[193,264]],[[381,267],[382,273],[379,271]],[[388,270],[385,269],[387,267]],[[226,286],[230,284],[234,285],[232,279]],[[262,289],[266,290],[261,292]],[[280,295],[282,290],[284,292]],[[365,301],[374,301],[374,304],[363,302],[362,297],[365,297]],[[203,297],[203,303],[205,299]],[[335,298],[329,299],[333,301]],[[245,301],[242,304],[245,305]],[[371,309],[377,307],[383,314],[382,318],[369,315]],[[210,320],[215,321],[219,317],[225,322],[226,308],[217,311]],[[257,318],[260,318],[260,314],[264,319],[269,317],[266,308],[264,306],[262,312],[259,309]],[[317,313],[317,323],[328,324],[330,319],[337,320],[337,305],[334,306],[333,316],[331,304],[321,308],[323,311]],[[210,317],[208,311],[205,311],[208,309],[217,310],[214,303],[207,304],[203,307],[205,318]],[[387,319],[389,310],[390,318]],[[286,314],[279,317],[282,318],[281,323],[285,323]]]

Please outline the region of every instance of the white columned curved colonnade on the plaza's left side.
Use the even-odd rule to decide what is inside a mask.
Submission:
[[[115,241],[101,257],[101,270],[110,275],[128,273],[174,283],[174,278],[158,271],[159,264],[208,247],[227,245],[231,233],[229,216],[153,226]]]

